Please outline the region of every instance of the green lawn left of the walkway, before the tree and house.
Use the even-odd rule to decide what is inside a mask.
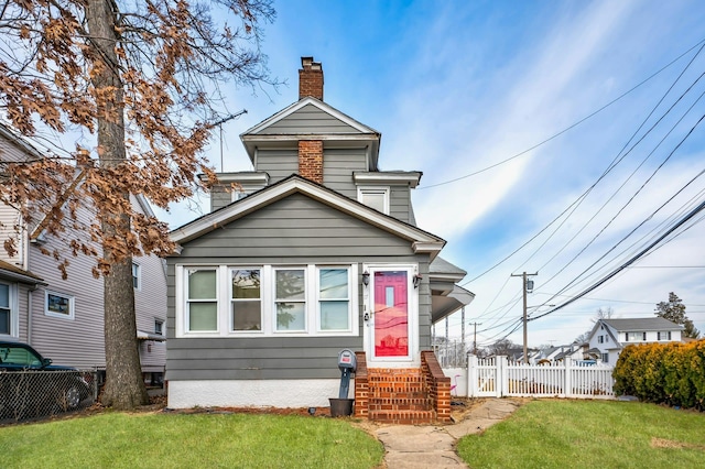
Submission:
[[[124,414],[0,428],[10,468],[372,468],[382,445],[348,422],[259,414]]]

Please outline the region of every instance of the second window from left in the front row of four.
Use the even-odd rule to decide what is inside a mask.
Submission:
[[[262,330],[262,288],[259,269],[230,271],[232,330]]]

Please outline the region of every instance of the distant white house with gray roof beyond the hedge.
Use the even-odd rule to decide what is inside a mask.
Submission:
[[[615,364],[630,343],[680,342],[683,326],[662,317],[599,319],[590,331],[590,350],[599,350],[603,362]]]

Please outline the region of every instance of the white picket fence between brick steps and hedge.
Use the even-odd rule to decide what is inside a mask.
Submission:
[[[612,367],[606,364],[572,360],[525,364],[510,362],[507,357],[480,359],[471,355],[467,364],[467,390],[463,391],[469,397],[615,399]]]

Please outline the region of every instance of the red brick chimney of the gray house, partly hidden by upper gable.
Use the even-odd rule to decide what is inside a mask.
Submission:
[[[299,70],[299,99],[307,96],[323,101],[323,67],[313,57],[301,57]],[[299,141],[299,174],[323,184],[323,141]]]

